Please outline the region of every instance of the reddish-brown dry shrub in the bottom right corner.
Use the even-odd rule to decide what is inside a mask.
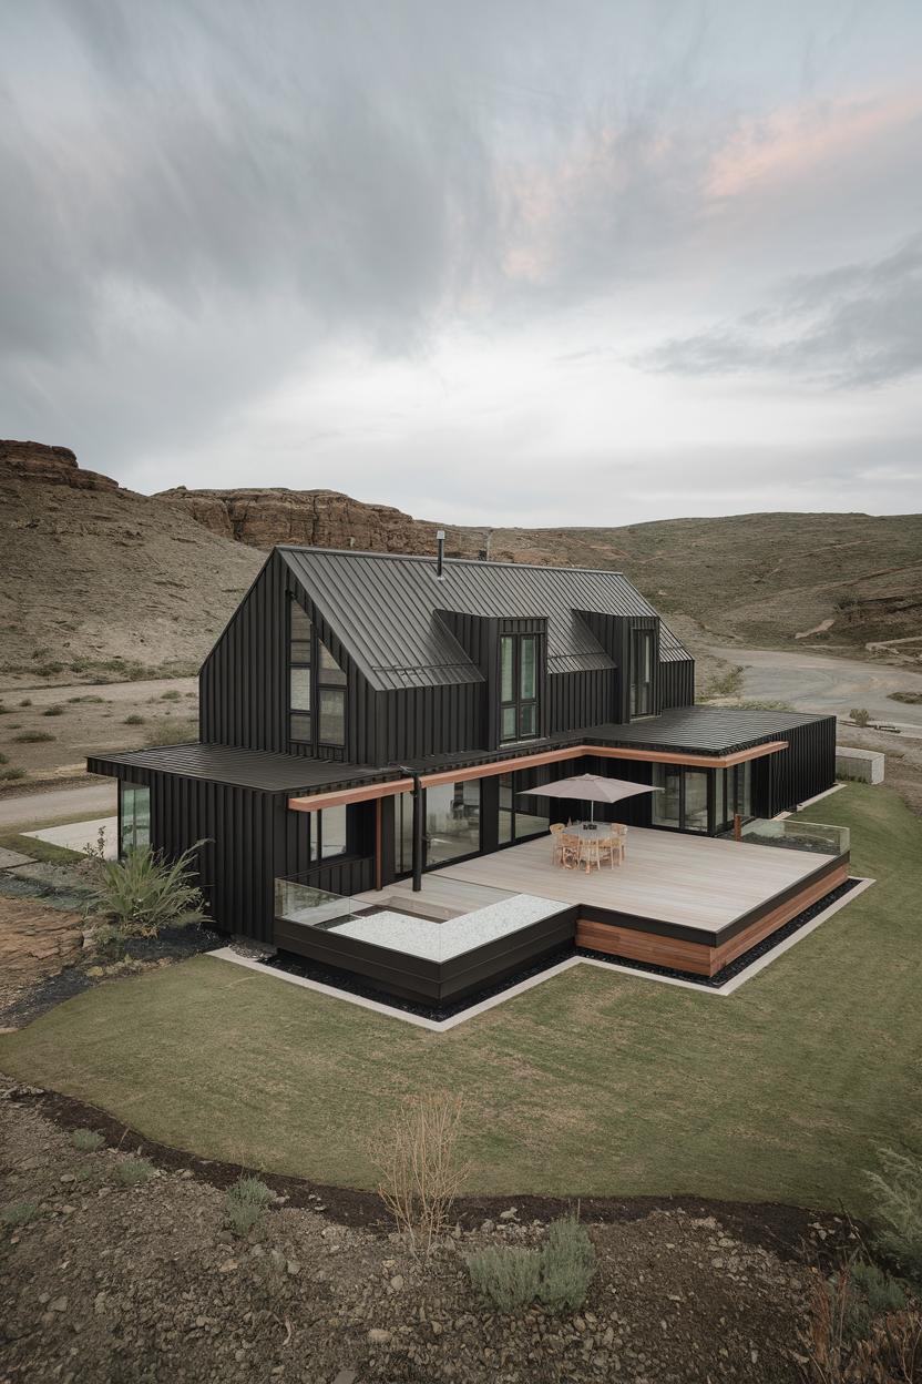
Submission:
[[[818,1275],[805,1336],[811,1384],[922,1384],[922,1311],[916,1305],[875,1318],[860,1340],[852,1265],[828,1280]]]

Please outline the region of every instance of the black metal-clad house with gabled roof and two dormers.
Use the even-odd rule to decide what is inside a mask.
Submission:
[[[617,572],[279,547],[200,673],[194,745],[94,757],[122,848],[198,841],[214,926],[516,846],[567,774],[661,789],[601,815],[720,836],[832,786],[835,718],[694,704],[694,662]],[[612,765],[610,761],[615,760]]]

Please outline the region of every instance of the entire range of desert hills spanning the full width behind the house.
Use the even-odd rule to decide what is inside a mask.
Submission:
[[[66,447],[0,441],[0,671],[111,677],[115,660],[187,671],[272,543],[433,552],[437,527],[330,490],[141,495],[84,471]],[[922,655],[919,515],[444,527],[456,556],[622,569],[697,652],[737,642],[854,653],[886,641],[890,656]]]

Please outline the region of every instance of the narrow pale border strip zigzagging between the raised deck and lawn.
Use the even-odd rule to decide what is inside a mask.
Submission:
[[[854,877],[854,876],[853,876]],[[633,966],[621,966],[618,962],[594,960],[592,956],[568,956],[567,960],[558,962],[556,966],[549,966],[547,970],[542,970],[538,976],[529,976],[527,980],[520,981],[517,985],[510,985],[509,990],[503,990],[499,995],[492,995],[489,999],[482,999],[478,1005],[471,1005],[469,1009],[462,1010],[459,1014],[453,1014],[451,1019],[444,1019],[441,1021],[435,1019],[423,1019],[422,1014],[408,1014],[402,1009],[397,1009],[394,1005],[382,1003],[377,999],[366,999],[364,995],[351,995],[346,990],[337,990],[335,985],[323,985],[318,980],[307,980],[304,976],[289,976],[288,972],[276,970],[274,966],[265,966],[260,960],[254,960],[250,956],[241,956],[234,951],[232,947],[221,947],[213,952],[205,952],[206,956],[216,956],[218,960],[234,962],[235,966],[245,966],[247,970],[260,972],[263,976],[270,976],[274,980],[288,981],[290,985],[301,985],[303,990],[314,990],[319,995],[329,995],[330,999],[340,999],[347,1005],[357,1005],[359,1009],[370,1009],[377,1014],[387,1014],[388,1019],[402,1019],[406,1024],[413,1024],[416,1028],[427,1028],[430,1032],[444,1034],[451,1028],[456,1028],[459,1024],[467,1023],[469,1019],[476,1019],[477,1014],[485,1014],[489,1009],[495,1009],[496,1005],[506,1003],[507,999],[514,999],[516,995],[524,995],[525,991],[534,990],[535,985],[543,984],[553,976],[560,976],[565,970],[571,970],[574,966],[597,966],[601,970],[617,970],[622,976],[633,976],[634,980],[655,981],[659,985],[677,985],[680,990],[694,990],[699,995],[713,995],[717,999],[726,999],[733,995],[734,991],[745,985],[748,980],[758,976],[760,970],[770,966],[773,960],[784,955],[784,952],[791,951],[792,947],[803,937],[809,937],[810,933],[816,931],[821,923],[825,923],[828,918],[838,913],[840,908],[850,904],[853,898],[863,894],[865,889],[876,883],[874,879],[863,879],[858,876],[858,884],[850,889],[847,894],[842,898],[836,898],[834,904],[824,908],[821,913],[817,913],[809,923],[792,933],[791,937],[785,937],[782,943],[773,947],[741,970],[738,976],[728,980],[726,985],[720,985],[715,990],[711,985],[701,985],[693,980],[679,980],[676,976],[655,976],[648,970],[634,970]]]

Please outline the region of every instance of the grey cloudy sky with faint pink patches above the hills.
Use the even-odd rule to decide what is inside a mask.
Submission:
[[[0,0],[0,433],[449,522],[922,509],[919,0]]]

